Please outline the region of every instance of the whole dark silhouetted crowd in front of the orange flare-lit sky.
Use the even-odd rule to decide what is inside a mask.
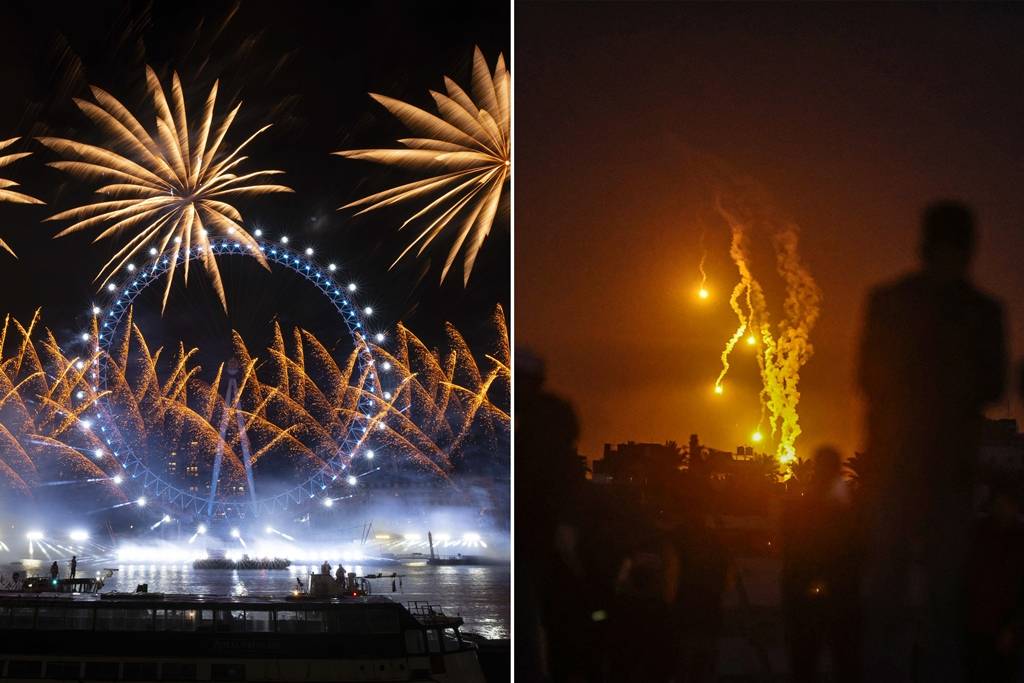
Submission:
[[[788,680],[1021,676],[1024,490],[978,471],[1008,360],[1001,305],[970,281],[975,241],[965,205],[926,209],[922,267],[867,300],[855,476],[819,449],[769,515]],[[652,506],[588,482],[543,364],[517,353],[516,379],[516,677],[718,680],[727,587],[749,603],[712,487],[690,477]],[[728,635],[751,645],[750,680],[781,680],[764,620],[746,616]]]

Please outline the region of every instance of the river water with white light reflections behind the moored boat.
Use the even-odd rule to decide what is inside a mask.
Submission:
[[[84,564],[84,563],[83,563]],[[108,580],[103,592],[134,591],[148,584],[151,593],[206,593],[210,595],[286,595],[299,579],[318,571],[312,565],[292,565],[284,570],[194,569],[178,564],[106,564],[118,571]],[[99,566],[83,566],[84,575],[92,575]],[[337,569],[337,565],[333,567]],[[461,614],[464,631],[485,638],[508,638],[511,622],[511,572],[506,566],[346,566],[360,577],[367,573],[397,571],[403,574],[398,592],[391,593],[391,580],[371,582],[374,593],[398,602],[425,600],[439,604],[450,614]],[[79,570],[82,572],[82,569]]]

